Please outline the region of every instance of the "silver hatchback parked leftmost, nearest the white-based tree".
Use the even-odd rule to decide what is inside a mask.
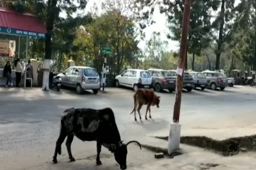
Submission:
[[[100,76],[95,68],[72,66],[57,76],[61,77],[62,86],[76,88],[78,94],[82,94],[84,90],[89,89],[94,94],[99,92]]]

